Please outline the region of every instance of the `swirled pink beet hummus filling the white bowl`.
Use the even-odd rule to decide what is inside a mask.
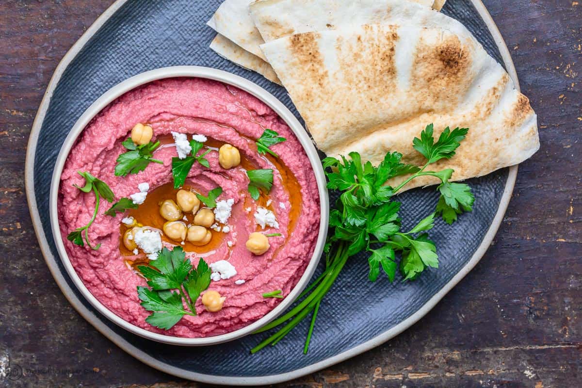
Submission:
[[[162,330],[145,322],[151,312],[140,305],[136,287],[146,286],[127,262],[138,259],[120,250],[122,219],[104,215],[111,207],[102,201],[95,222],[88,230],[98,250],[80,247],[67,240],[76,227],[86,225],[93,214],[93,193],[83,193],[73,184],[83,185],[77,171],[87,171],[105,181],[118,200],[137,193],[138,184],[147,182],[149,193],[172,182],[172,157],[177,156],[173,144],[164,144],[154,152],[154,158],[163,165],[150,163],[136,175],[115,176],[116,159],[126,151],[122,141],[129,137],[136,123],[147,123],[153,128],[154,139],[169,137],[173,132],[201,134],[217,143],[229,143],[240,150],[243,158],[257,168],[273,169],[274,184],[268,195],[268,205],[250,198],[249,179],[239,166],[223,169],[218,163],[218,152],[207,155],[210,169],[198,163],[190,170],[186,185],[206,194],[220,186],[223,193],[218,200],[235,200],[229,218],[229,231],[220,234],[220,243],[208,252],[186,252],[193,265],[200,257],[208,263],[229,261],[237,274],[229,279],[212,281],[208,290],[216,290],[226,297],[219,312],[208,312],[196,302],[197,316],[185,315],[173,328]],[[264,129],[272,129],[286,138],[271,149],[279,155],[278,161],[291,172],[300,186],[300,206],[294,209],[292,195],[285,186],[280,169],[272,159],[257,153],[254,141]],[[112,102],[81,133],[66,160],[59,188],[59,223],[61,235],[70,261],[87,289],[109,310],[140,328],[178,337],[207,337],[232,332],[261,318],[281,299],[264,298],[262,293],[282,290],[283,296],[297,284],[313,255],[320,226],[320,199],[315,175],[299,140],[271,108],[252,95],[217,81],[205,79],[166,79],[155,81],[127,92]],[[261,200],[264,201],[262,198]],[[255,209],[267,206],[276,215],[278,228],[261,229],[253,217]],[[139,220],[139,208],[136,219]],[[270,237],[271,248],[263,255],[253,255],[245,246],[250,233],[281,233]],[[214,234],[213,234],[214,236]],[[213,237],[214,238],[214,237]],[[172,249],[179,243],[164,241]],[[244,280],[244,283],[242,283]],[[238,281],[238,282],[237,282]],[[237,284],[237,283],[239,284]],[[242,284],[241,284],[242,283]]]

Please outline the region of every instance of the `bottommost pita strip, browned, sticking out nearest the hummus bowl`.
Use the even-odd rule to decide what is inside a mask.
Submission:
[[[214,40],[212,40],[210,48],[222,56],[222,58],[228,59],[245,69],[254,70],[269,81],[281,85],[281,81],[279,81],[271,65],[261,58],[258,58],[258,56],[237,46],[221,34],[217,34]]]

